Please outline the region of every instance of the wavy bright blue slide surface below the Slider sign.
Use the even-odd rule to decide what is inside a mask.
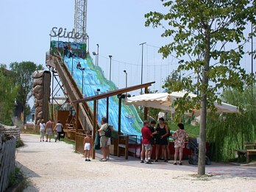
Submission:
[[[63,42],[57,42],[58,49],[63,48]],[[56,46],[56,44],[55,44]],[[71,43],[72,49],[76,49],[77,46]],[[107,80],[104,77],[102,68],[93,64],[92,57],[89,54],[84,57],[84,59],[78,54],[74,54],[74,57],[67,57],[64,55],[63,60],[68,68],[71,77],[76,82],[77,87],[81,91],[83,97],[95,96],[99,93],[107,93],[110,90],[118,89],[113,82]],[[81,64],[84,71],[77,68],[77,63]],[[118,75],[118,74],[117,74]],[[93,110],[93,102],[88,102],[91,110]],[[106,116],[107,113],[107,99],[100,99],[98,101],[98,113],[97,120],[101,121],[102,117]],[[118,130],[118,98],[117,96],[112,96],[109,99],[109,124],[113,125],[115,130]],[[133,105],[122,104],[121,107],[121,132],[129,135],[141,135],[141,127],[143,127],[143,121],[138,115],[137,110]]]

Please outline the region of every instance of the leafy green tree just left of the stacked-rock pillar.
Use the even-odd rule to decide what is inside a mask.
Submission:
[[[15,73],[15,83],[18,86],[18,101],[21,102],[23,109],[26,109],[26,103],[32,97],[33,79],[32,74],[36,70],[43,69],[43,65],[36,65],[33,62],[25,61],[21,63],[11,63],[11,70]],[[24,113],[26,110],[24,110]],[[24,124],[26,123],[26,114],[24,114]]]

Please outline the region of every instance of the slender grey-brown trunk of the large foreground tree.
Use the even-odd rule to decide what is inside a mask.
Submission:
[[[198,174],[205,174],[205,146],[206,146],[206,118],[207,118],[207,88],[210,65],[210,29],[205,30],[205,65],[202,71],[202,90],[201,90],[201,112],[200,112],[200,143],[199,143],[199,160],[198,160]]]

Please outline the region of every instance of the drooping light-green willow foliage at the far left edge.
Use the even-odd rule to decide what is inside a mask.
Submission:
[[[17,96],[17,88],[14,82],[14,74],[8,71],[6,65],[0,66],[0,122],[13,125],[14,100]]]

